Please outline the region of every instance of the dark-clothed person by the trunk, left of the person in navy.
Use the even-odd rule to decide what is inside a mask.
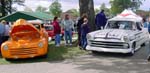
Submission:
[[[81,46],[81,25],[84,23],[84,18],[87,18],[86,14],[83,14],[77,22],[77,32],[78,32],[78,45]]]

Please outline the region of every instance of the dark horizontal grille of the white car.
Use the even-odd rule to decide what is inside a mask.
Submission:
[[[90,46],[110,49],[127,49],[129,44],[123,42],[90,41]]]

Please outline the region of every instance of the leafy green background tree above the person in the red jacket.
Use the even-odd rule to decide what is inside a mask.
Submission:
[[[58,2],[58,0],[55,0],[49,7],[50,13],[52,13],[54,16],[60,17],[62,10],[61,10],[61,4]]]

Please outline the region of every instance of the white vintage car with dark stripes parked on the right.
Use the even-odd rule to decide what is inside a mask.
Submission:
[[[141,18],[121,16],[109,19],[103,30],[89,33],[86,50],[133,55],[149,41],[149,33],[142,27]]]

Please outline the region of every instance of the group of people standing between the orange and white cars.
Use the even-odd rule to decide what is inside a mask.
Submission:
[[[96,15],[95,18],[97,30],[103,29],[107,18],[105,16],[104,10]],[[88,16],[87,14],[83,14],[77,21],[77,32],[78,32],[78,45],[80,49],[85,49],[87,45],[87,38],[86,35],[90,32],[90,27],[88,23]],[[54,26],[54,33],[55,33],[55,45],[60,46],[60,33],[61,29],[64,29],[65,35],[65,45],[72,45],[72,33],[74,30],[74,22],[69,17],[68,14],[65,15],[65,18],[59,24],[58,17],[54,17],[52,25]]]

